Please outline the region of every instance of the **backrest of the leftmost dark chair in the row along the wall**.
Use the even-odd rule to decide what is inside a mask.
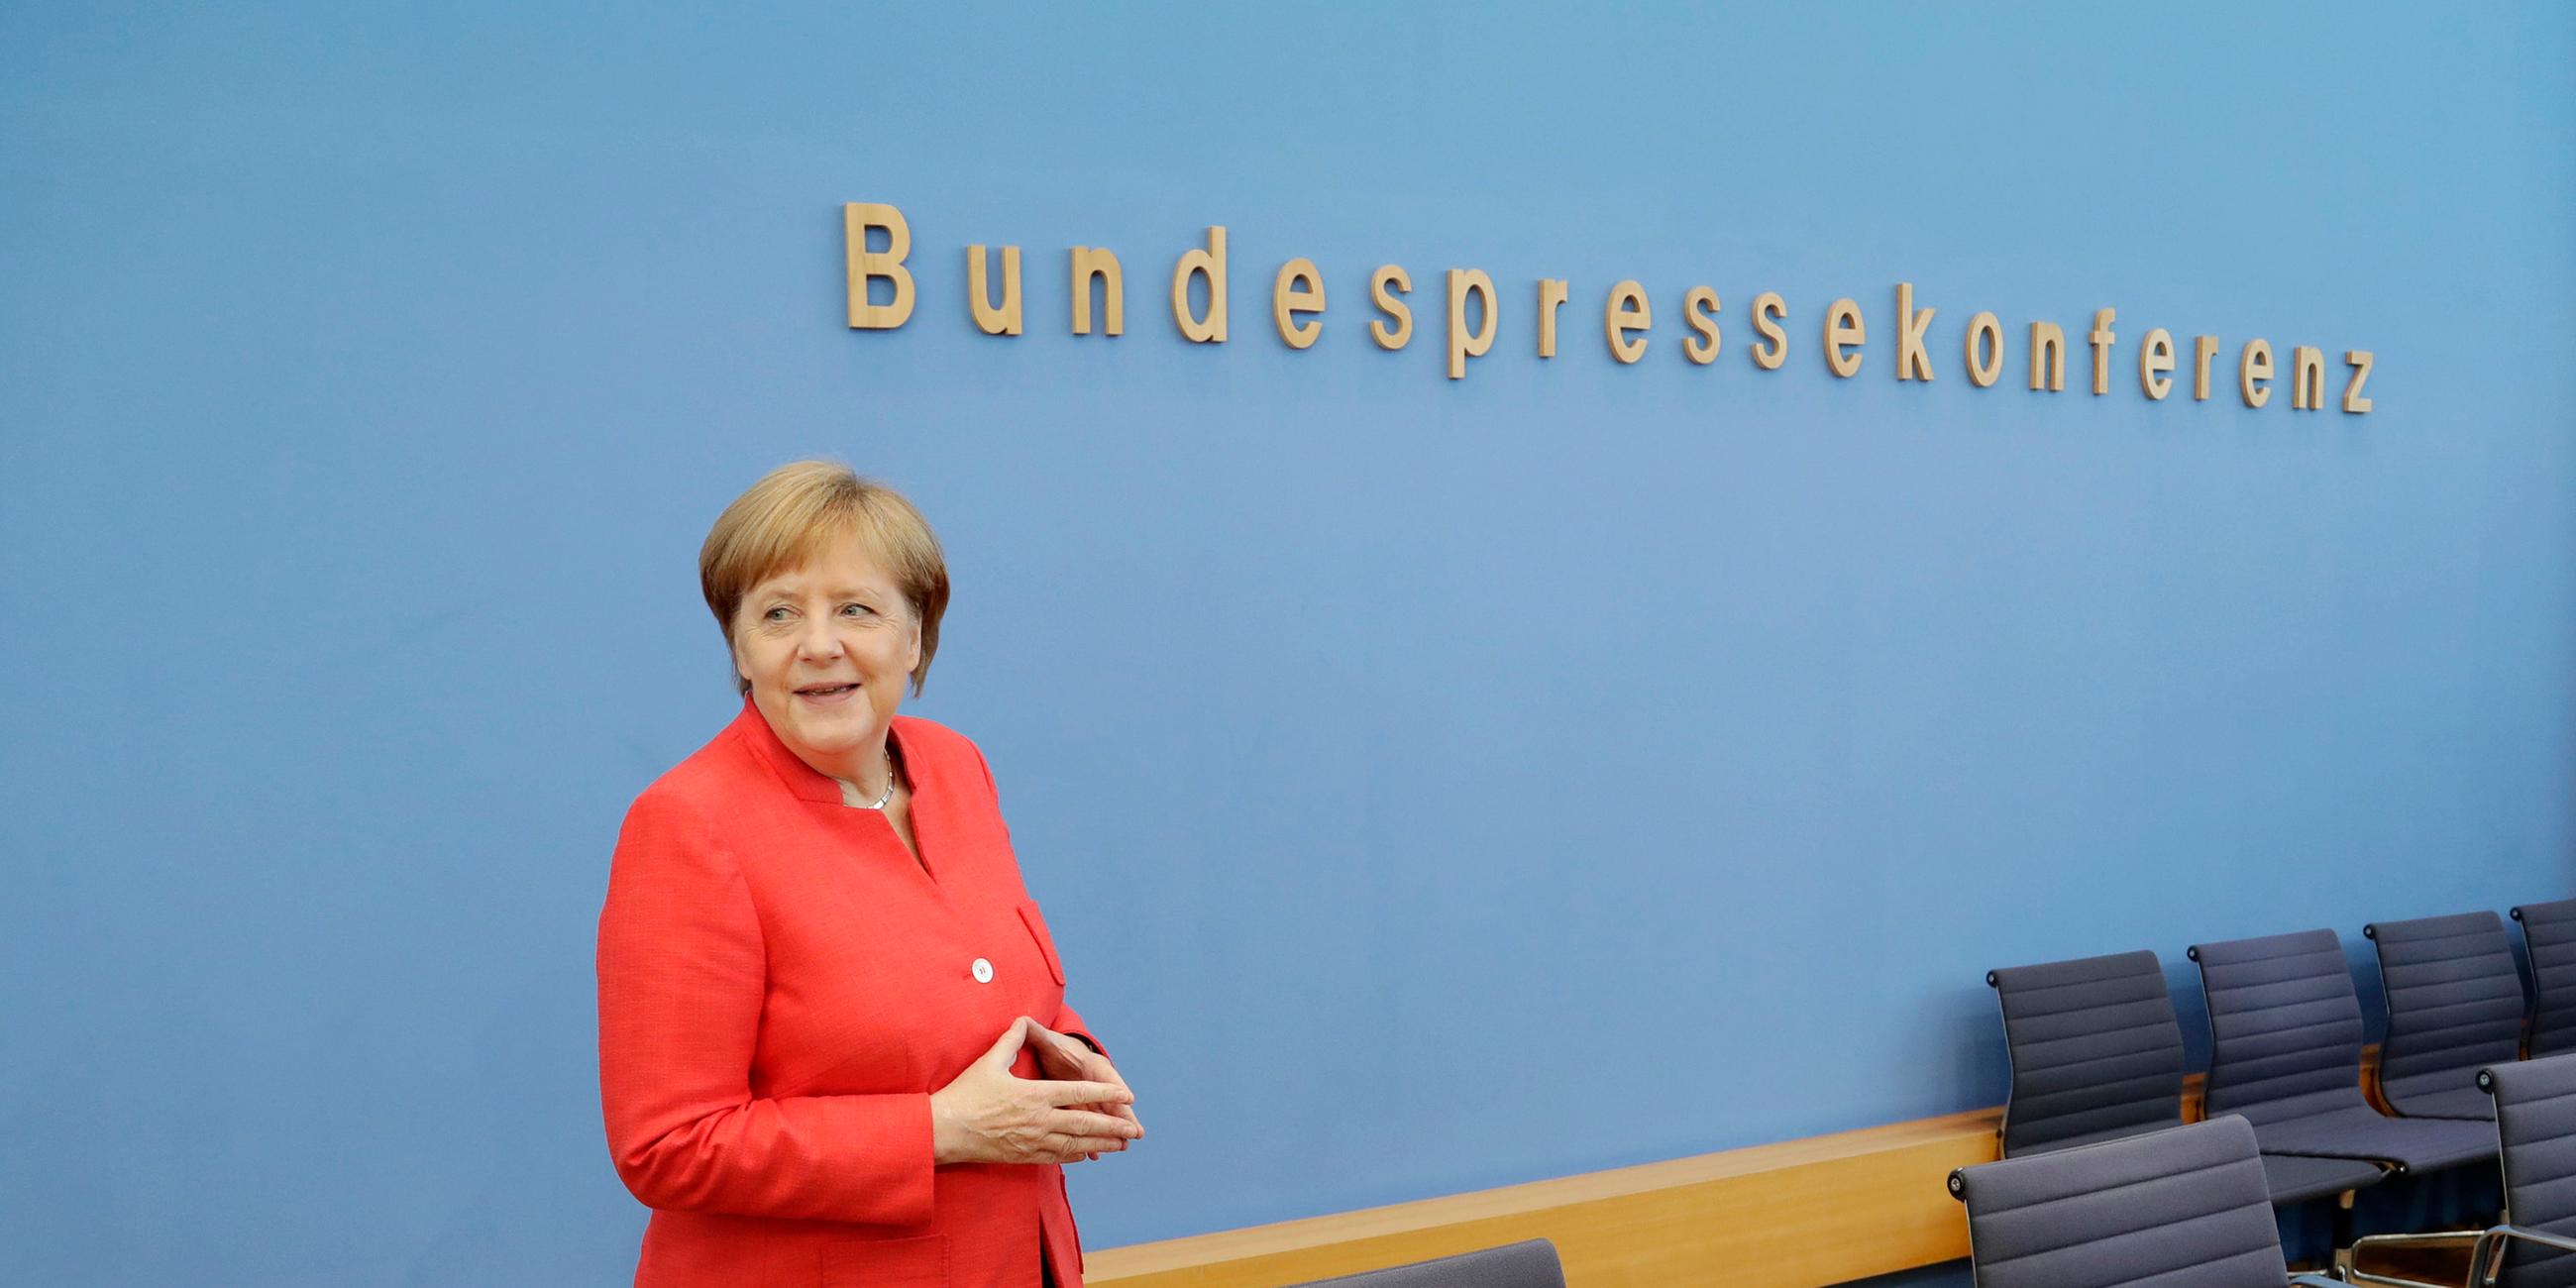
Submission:
[[[2156,953],[1986,971],[2004,1007],[2004,1157],[2182,1126],[2182,1025]]]

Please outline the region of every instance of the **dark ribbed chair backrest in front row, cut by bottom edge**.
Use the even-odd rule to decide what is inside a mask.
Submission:
[[[2244,1118],[1950,1172],[1976,1288],[2280,1288],[2287,1267]]]

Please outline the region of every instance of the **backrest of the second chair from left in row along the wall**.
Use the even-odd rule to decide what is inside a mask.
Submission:
[[[2192,961],[2210,1002],[2208,1113],[2277,1123],[2370,1108],[2362,1002],[2334,930],[2202,943]]]

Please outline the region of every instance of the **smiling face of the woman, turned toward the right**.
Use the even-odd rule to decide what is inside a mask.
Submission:
[[[894,577],[835,533],[734,608],[734,670],[778,742],[840,781],[876,778],[886,726],[922,665],[922,623]]]

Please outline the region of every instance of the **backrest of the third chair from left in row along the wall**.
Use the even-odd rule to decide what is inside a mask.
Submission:
[[[2504,917],[2372,922],[2362,935],[2380,951],[2380,1092],[2398,1113],[2416,1095],[2470,1092],[2481,1066],[2522,1056],[2522,971]]]

